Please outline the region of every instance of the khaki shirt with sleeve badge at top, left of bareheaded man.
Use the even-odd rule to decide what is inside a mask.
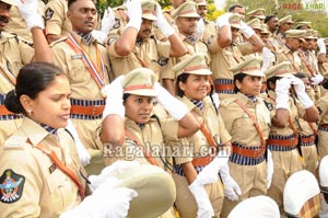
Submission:
[[[67,35],[72,31],[72,24],[67,18],[67,0],[50,0],[46,4],[46,34]]]

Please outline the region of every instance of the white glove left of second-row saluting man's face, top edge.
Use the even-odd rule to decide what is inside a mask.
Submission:
[[[137,31],[139,32],[142,22],[141,1],[127,0],[125,5],[127,8],[127,13],[129,16],[129,23],[127,23],[126,28],[133,27],[137,28]]]

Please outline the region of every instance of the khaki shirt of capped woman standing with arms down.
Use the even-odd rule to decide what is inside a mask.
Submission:
[[[220,104],[220,114],[225,124],[226,130],[231,134],[232,142],[245,147],[259,147],[260,138],[248,114],[236,103],[239,100],[256,121],[262,131],[263,139],[268,139],[270,133],[271,117],[265,102],[258,97],[254,103],[243,93],[238,92],[234,97],[225,99]]]

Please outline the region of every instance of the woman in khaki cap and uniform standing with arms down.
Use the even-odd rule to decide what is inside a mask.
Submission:
[[[234,72],[238,92],[234,97],[221,102],[220,114],[232,136],[233,149],[229,167],[242,195],[237,199],[224,199],[221,217],[227,217],[239,202],[248,197],[266,195],[272,173],[272,169],[269,171],[271,164],[266,162],[270,112],[259,97],[265,77],[261,71],[261,58],[249,58],[231,70]],[[271,161],[270,154],[267,161]]]

